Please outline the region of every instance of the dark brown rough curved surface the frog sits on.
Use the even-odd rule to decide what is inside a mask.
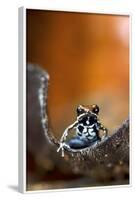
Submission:
[[[59,174],[65,181],[67,177],[71,180],[79,177],[80,180],[80,184],[76,184],[76,181],[75,184],[68,182],[69,185],[64,182],[63,186],[58,184],[48,186],[48,188],[127,184],[129,175],[129,120],[125,120],[112,136],[94,148],[87,148],[81,153],[65,150],[65,156],[62,158],[61,152],[57,153],[59,141],[56,140],[48,125],[48,81],[47,72],[36,65],[29,64],[27,66],[28,189],[35,188],[35,186],[31,186],[32,183],[36,183],[38,180],[44,181],[41,174],[44,172],[45,176],[45,172],[47,174],[48,171],[51,171],[53,177],[55,177],[55,173]],[[33,168],[33,166],[36,167]],[[30,178],[29,172],[34,174],[34,178]],[[88,179],[89,177],[90,179]],[[46,188],[47,186],[44,184],[39,187],[39,189]]]

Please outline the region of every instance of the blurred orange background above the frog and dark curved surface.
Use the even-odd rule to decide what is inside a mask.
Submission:
[[[50,75],[56,137],[75,120],[79,104],[98,104],[110,134],[128,117],[129,16],[27,10],[27,62]]]

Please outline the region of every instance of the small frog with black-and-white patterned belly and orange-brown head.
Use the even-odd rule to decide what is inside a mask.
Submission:
[[[99,106],[97,104],[79,105],[76,114],[75,122],[65,129],[59,142],[57,152],[62,150],[62,157],[64,149],[70,149],[74,152],[81,151],[96,145],[108,136],[108,129],[99,120]],[[75,129],[75,136],[66,141],[68,134],[73,129]],[[100,130],[103,131],[102,136],[100,136]]]

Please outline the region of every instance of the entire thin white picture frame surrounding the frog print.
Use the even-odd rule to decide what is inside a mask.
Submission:
[[[77,8],[55,8],[51,7],[38,7],[38,6],[28,6],[19,8],[19,191],[21,193],[42,193],[42,192],[56,192],[56,191],[76,191],[76,190],[93,190],[93,189],[106,189],[106,188],[125,188],[131,187],[132,185],[132,163],[131,163],[131,133],[130,133],[130,179],[128,185],[114,185],[114,186],[96,186],[96,187],[81,187],[81,188],[65,188],[65,189],[49,189],[49,190],[36,190],[36,191],[27,191],[26,190],[26,9],[34,10],[46,10],[46,11],[63,11],[63,12],[75,12],[75,13],[92,13],[92,14],[105,14],[105,15],[120,15],[120,16],[129,16],[129,42],[130,42],[130,117],[131,117],[131,92],[132,92],[132,82],[131,76],[133,76],[131,68],[131,36],[132,36],[132,12],[115,12],[106,11],[106,9],[77,9]],[[22,101],[23,99],[23,101]],[[131,120],[130,125],[132,126]],[[22,168],[23,166],[23,168]]]

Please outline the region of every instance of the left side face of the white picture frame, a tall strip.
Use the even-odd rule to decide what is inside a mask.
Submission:
[[[18,185],[26,191],[26,9],[19,8],[19,137],[18,137]]]

